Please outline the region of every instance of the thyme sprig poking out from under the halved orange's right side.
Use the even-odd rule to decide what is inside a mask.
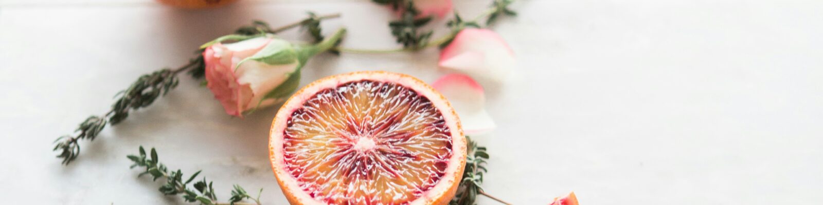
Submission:
[[[483,173],[486,173],[486,160],[489,159],[489,153],[486,153],[486,147],[477,145],[477,142],[467,139],[467,157],[466,168],[463,170],[463,180],[460,181],[457,194],[449,202],[449,205],[474,205],[477,200],[477,195],[483,195],[494,199],[497,202],[507,204],[500,198],[496,198],[491,194],[483,191]]]

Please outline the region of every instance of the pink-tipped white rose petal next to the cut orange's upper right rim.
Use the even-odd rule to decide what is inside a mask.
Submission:
[[[449,100],[458,112],[466,134],[484,134],[494,130],[496,125],[486,112],[486,96],[483,87],[463,74],[444,75],[432,87]]]

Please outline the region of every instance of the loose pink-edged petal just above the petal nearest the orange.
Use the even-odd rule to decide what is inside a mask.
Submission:
[[[512,77],[517,61],[514,52],[494,31],[461,30],[440,52],[439,66],[476,79],[504,82]]]

